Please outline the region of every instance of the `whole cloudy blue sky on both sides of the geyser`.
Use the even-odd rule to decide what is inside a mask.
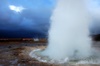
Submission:
[[[45,37],[55,3],[55,0],[0,0],[0,38]],[[91,1],[88,7],[94,18],[90,31],[99,34],[99,0]]]

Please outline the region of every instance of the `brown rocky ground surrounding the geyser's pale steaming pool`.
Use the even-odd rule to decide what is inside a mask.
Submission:
[[[92,46],[100,50],[100,42],[93,42]],[[32,50],[45,47],[45,43],[0,44],[0,66],[100,66],[99,64],[48,64],[29,56]]]

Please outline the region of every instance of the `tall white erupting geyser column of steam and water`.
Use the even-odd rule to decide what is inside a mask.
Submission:
[[[43,56],[60,60],[91,55],[90,16],[85,0],[58,0],[51,20],[48,46],[41,53]]]

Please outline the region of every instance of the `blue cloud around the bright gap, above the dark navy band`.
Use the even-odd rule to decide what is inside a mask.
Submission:
[[[21,6],[24,10],[17,13],[9,5]],[[52,0],[1,0],[0,29],[24,29],[45,33],[49,27],[52,9]]]

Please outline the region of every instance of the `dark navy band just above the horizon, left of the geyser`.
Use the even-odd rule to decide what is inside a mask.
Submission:
[[[46,34],[30,30],[0,30],[0,38],[46,38]]]

